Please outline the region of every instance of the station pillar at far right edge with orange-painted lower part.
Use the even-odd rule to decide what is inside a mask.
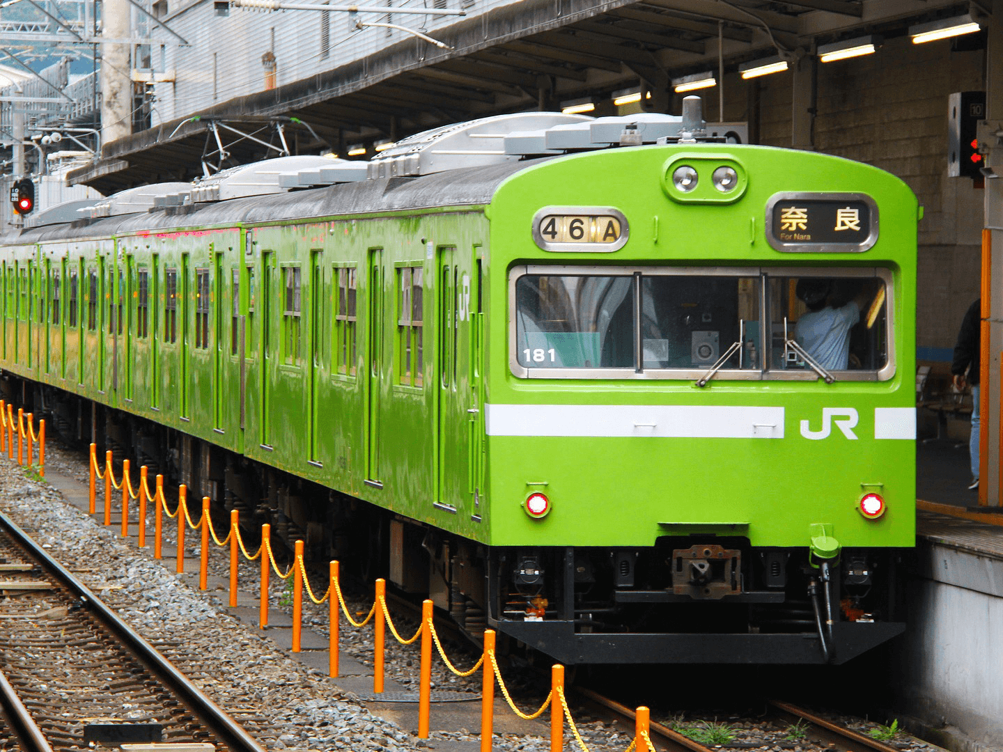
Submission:
[[[1003,0],[994,0],[993,14],[983,19],[988,27],[986,54],[986,119],[1003,120]],[[1003,172],[1003,146],[994,145],[986,164]],[[982,391],[989,396],[988,409],[981,415],[986,457],[980,457],[983,475],[979,478],[979,503],[1000,504],[1000,351],[1003,349],[1003,178],[987,178],[985,187],[985,227],[991,249],[983,249],[983,314],[988,293],[989,362],[983,365]],[[988,258],[987,258],[988,257]],[[987,373],[988,371],[988,373]],[[983,406],[986,401],[983,400]],[[988,442],[986,442],[988,439]]]

